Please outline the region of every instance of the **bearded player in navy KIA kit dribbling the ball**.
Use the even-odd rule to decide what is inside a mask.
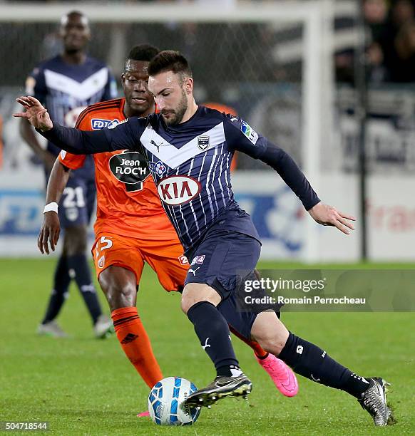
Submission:
[[[238,289],[245,280],[255,279],[260,241],[232,193],[229,167],[233,152],[245,152],[274,168],[319,224],[349,234],[354,218],[323,204],[292,158],[244,120],[198,106],[192,72],[180,53],[159,53],[148,73],[148,88],[160,114],[129,118],[111,130],[91,133],[63,128],[31,97],[18,99],[27,112],[15,116],[28,118],[46,138],[69,152],[128,148],[141,152],[148,161],[165,212],[190,261],[182,309],[217,373],[210,385],[189,396],[188,405],[206,406],[250,393],[252,383],[239,367],[229,323],[300,375],[353,395],[375,425],[386,425],[390,410],[382,378],[352,373],[321,348],[289,332],[276,311],[237,309]]]

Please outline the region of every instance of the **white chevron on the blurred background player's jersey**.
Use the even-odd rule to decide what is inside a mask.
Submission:
[[[45,69],[44,73],[46,88],[61,91],[79,100],[88,100],[105,88],[108,82],[108,68],[106,67],[93,73],[81,83],[56,71]]]

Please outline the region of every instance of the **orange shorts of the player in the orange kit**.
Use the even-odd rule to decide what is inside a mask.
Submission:
[[[189,268],[178,239],[148,241],[101,232],[96,235],[92,255],[97,278],[108,266],[121,266],[133,271],[139,284],[147,262],[166,291],[183,289]]]

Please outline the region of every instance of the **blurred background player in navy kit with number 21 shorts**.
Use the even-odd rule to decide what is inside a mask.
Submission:
[[[86,54],[91,38],[86,16],[76,11],[63,16],[60,33],[63,52],[34,68],[26,81],[26,92],[46,104],[53,119],[73,127],[86,106],[116,97],[116,83],[104,63]],[[52,142],[48,142],[44,150],[26,120],[21,120],[21,135],[41,158],[47,180],[61,150]],[[59,216],[65,229],[63,250],[56,264],[46,314],[38,329],[40,334],[66,336],[54,320],[61,311],[72,278],[76,280],[91,315],[96,336],[105,336],[112,326],[101,311],[85,255],[88,222],[95,197],[93,160],[89,156],[83,167],[71,174],[59,204]],[[58,206],[49,207],[57,209]]]

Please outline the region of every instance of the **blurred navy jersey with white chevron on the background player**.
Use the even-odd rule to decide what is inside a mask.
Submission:
[[[26,93],[46,106],[53,120],[74,127],[88,105],[116,98],[117,87],[103,62],[88,56],[84,63],[73,65],[56,56],[34,68],[26,80]],[[61,150],[48,142],[48,151],[57,156]],[[78,175],[91,174],[93,161],[86,160],[83,168],[77,170]]]

